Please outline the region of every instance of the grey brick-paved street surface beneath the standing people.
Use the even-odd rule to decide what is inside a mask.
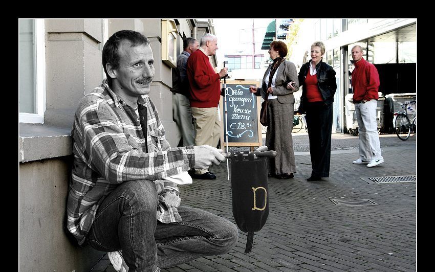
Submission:
[[[245,254],[239,231],[228,254],[208,256],[162,269],[163,272],[213,271],[416,271],[416,182],[370,184],[362,178],[416,175],[416,136],[401,141],[380,135],[385,162],[374,168],[353,165],[358,137],[334,133],[329,178],[307,182],[311,161],[307,133],[293,137],[293,179],[269,178],[269,217]],[[399,160],[400,159],[400,160]],[[194,179],[181,186],[186,205],[235,223],[226,163],[210,168],[217,179]],[[332,199],[376,205],[335,205]],[[115,271],[104,255],[92,271]]]

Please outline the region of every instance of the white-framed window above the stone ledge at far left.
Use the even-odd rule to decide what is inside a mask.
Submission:
[[[44,123],[45,42],[43,19],[19,19],[18,110],[21,123]]]

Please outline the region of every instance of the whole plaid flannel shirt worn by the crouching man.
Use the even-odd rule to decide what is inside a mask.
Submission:
[[[111,90],[106,79],[80,100],[72,129],[74,164],[67,204],[67,228],[79,244],[84,243],[101,202],[119,184],[159,180],[164,182],[164,192],[178,194],[175,184],[161,179],[194,165],[192,146],[171,148],[166,141],[148,95],[139,97],[138,103],[147,110],[146,135],[136,112]],[[177,209],[162,202],[157,219],[181,221]]]

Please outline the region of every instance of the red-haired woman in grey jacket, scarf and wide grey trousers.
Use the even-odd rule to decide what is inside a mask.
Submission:
[[[296,172],[292,139],[295,103],[293,93],[299,89],[299,81],[294,63],[284,59],[287,56],[286,43],[273,41],[269,55],[273,63],[264,74],[262,86],[250,86],[249,91],[269,100],[266,146],[277,152],[275,158],[269,159],[269,176],[293,178],[293,173]]]

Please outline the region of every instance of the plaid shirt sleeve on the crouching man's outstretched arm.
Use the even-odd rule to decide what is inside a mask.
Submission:
[[[141,152],[134,149],[136,141],[129,139],[123,130],[123,120],[117,120],[115,112],[107,103],[89,103],[81,108],[76,128],[81,134],[85,161],[97,171],[108,183],[119,184],[125,180],[156,180],[178,174],[193,167],[193,149],[185,147],[169,148],[160,133],[161,150]],[[160,121],[158,121],[160,123]]]

